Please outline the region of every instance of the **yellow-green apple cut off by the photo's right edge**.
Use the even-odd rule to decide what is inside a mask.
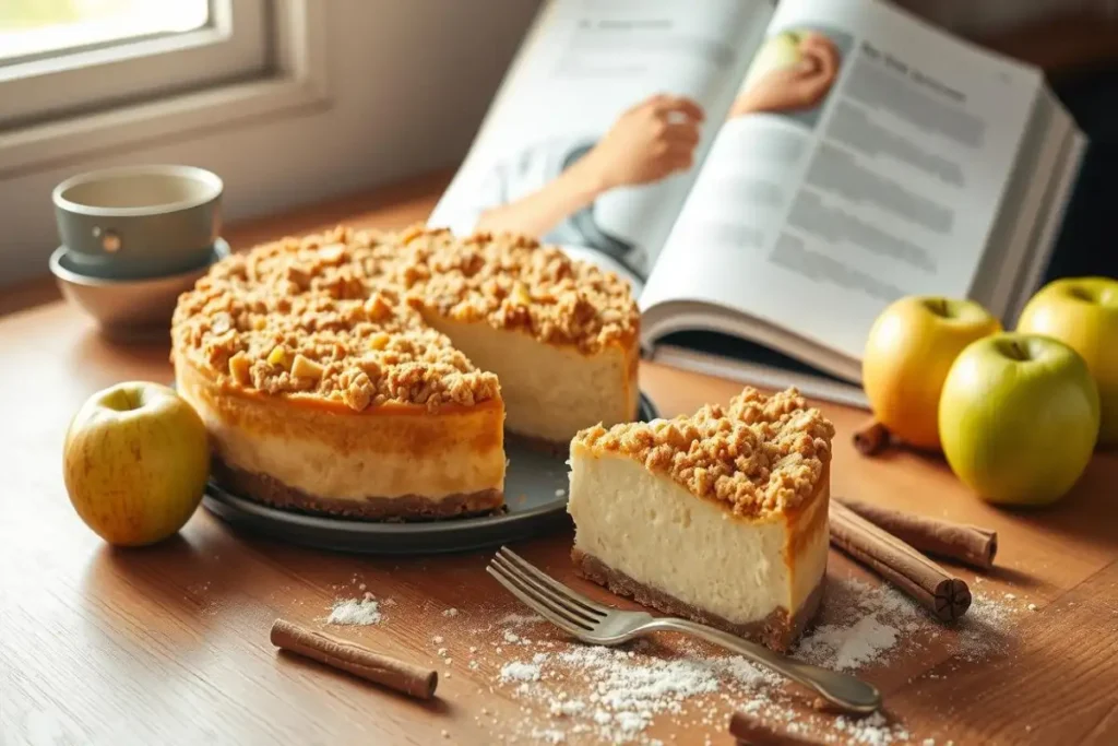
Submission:
[[[1118,280],[1049,283],[1025,305],[1017,331],[1054,337],[1083,356],[1099,386],[1099,444],[1118,446]]]

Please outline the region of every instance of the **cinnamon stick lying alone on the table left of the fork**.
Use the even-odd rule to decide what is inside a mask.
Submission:
[[[354,642],[307,630],[286,620],[276,620],[272,624],[272,644],[418,699],[430,699],[438,686],[436,671],[381,655]]]

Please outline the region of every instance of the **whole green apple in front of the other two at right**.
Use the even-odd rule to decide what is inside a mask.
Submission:
[[[1063,342],[1001,333],[969,344],[939,399],[939,436],[951,471],[985,500],[1059,500],[1091,460],[1099,391]]]

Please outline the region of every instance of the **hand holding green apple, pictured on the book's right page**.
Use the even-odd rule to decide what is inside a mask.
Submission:
[[[798,63],[766,73],[742,92],[730,107],[730,119],[811,108],[823,101],[839,73],[839,51],[827,37],[815,32],[800,40],[799,51],[803,59]]]

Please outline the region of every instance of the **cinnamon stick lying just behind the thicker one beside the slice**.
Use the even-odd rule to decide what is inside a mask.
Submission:
[[[865,520],[920,551],[949,557],[975,567],[991,568],[997,554],[997,531],[968,523],[955,523],[900,510],[890,510],[858,500],[837,500]],[[834,499],[832,500],[834,502]]]

